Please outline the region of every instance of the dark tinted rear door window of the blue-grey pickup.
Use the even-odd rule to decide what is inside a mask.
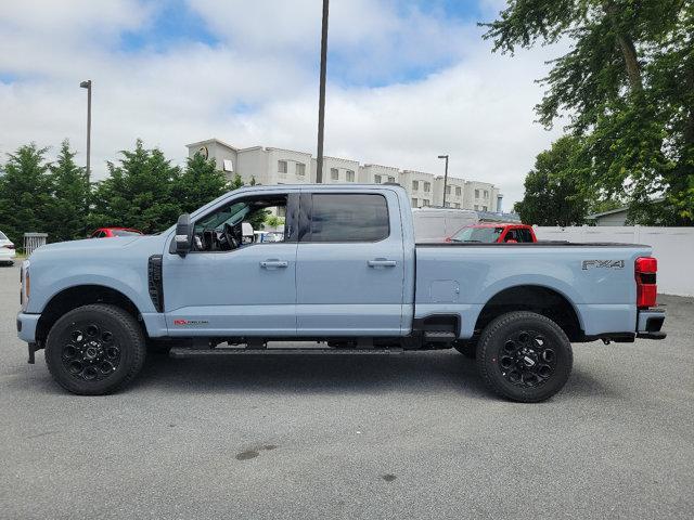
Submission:
[[[378,194],[313,194],[303,242],[378,242],[390,234],[388,206]]]

